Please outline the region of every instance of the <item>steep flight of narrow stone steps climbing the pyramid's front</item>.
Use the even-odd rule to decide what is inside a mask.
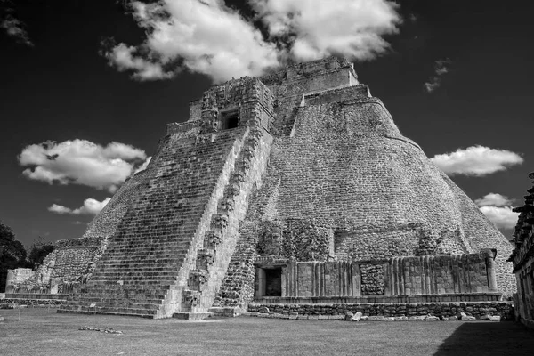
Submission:
[[[214,142],[197,145],[166,136],[152,158],[143,190],[110,239],[85,293],[74,296],[65,311],[93,312],[86,304],[96,303],[98,313],[143,315],[148,310],[172,316],[172,309],[163,306],[175,303],[166,299],[168,291],[177,286],[181,269],[189,268],[183,263],[191,247],[198,246],[195,239],[205,239],[199,229],[206,223],[224,223],[224,216],[211,216],[228,180],[223,167],[233,169],[247,134],[245,128],[222,132],[214,134]]]

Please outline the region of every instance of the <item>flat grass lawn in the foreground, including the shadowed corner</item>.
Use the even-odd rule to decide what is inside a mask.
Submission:
[[[143,320],[0,310],[0,355],[534,355],[514,322],[233,319]],[[124,334],[78,330],[114,328]]]

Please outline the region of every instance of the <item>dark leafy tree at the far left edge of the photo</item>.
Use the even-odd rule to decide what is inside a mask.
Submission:
[[[11,228],[0,222],[0,293],[5,291],[7,270],[26,264],[26,249],[15,239]]]

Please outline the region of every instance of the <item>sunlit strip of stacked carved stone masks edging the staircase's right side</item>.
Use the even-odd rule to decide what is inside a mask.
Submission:
[[[248,197],[255,185],[261,184],[271,140],[271,135],[262,128],[251,129],[213,215],[211,229],[206,231],[203,247],[198,249],[196,268],[190,271],[187,289],[182,294],[182,312],[174,313],[174,317],[198,320],[209,315],[239,239],[239,222],[247,213]]]

